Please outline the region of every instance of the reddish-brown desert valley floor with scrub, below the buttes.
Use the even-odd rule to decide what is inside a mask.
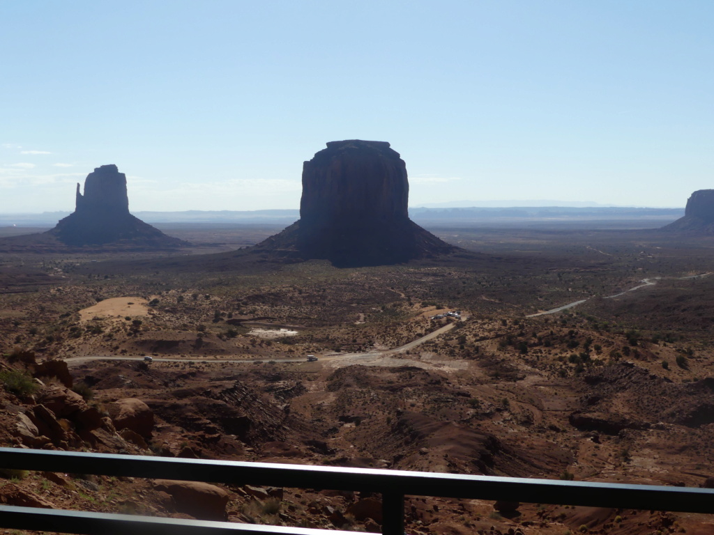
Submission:
[[[434,227],[446,254],[338,267],[274,253],[270,225],[181,226],[176,251],[2,240],[16,248],[0,266],[4,446],[713,484],[706,233]],[[7,504],[381,529],[379,496],[358,492],[213,486],[187,501],[167,481],[4,477]],[[406,525],[714,529],[700,514],[418,497]]]

